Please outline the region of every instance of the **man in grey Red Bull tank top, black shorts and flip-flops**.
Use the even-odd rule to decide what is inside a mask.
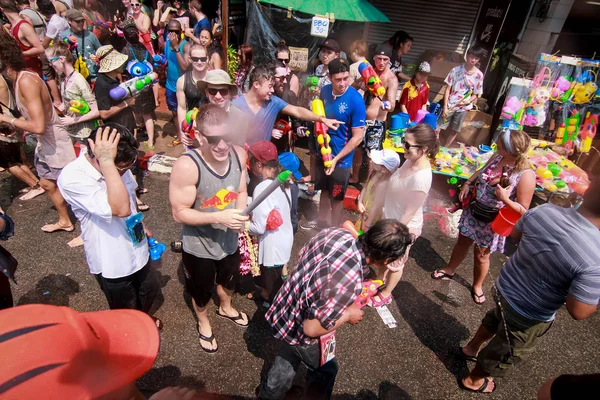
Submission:
[[[217,351],[208,319],[208,303],[217,283],[217,316],[248,326],[248,316],[231,304],[240,266],[238,231],[248,217],[246,152],[233,145],[232,126],[225,110],[201,106],[193,121],[198,148],[184,153],[173,165],[169,200],[176,222],[183,225],[185,288],[198,317],[200,347]]]

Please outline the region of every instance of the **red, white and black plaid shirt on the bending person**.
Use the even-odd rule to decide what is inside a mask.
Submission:
[[[320,232],[302,249],[298,266],[265,315],[275,337],[290,345],[315,343],[304,334],[304,321],[317,319],[323,328],[333,328],[360,294],[368,269],[350,232]]]

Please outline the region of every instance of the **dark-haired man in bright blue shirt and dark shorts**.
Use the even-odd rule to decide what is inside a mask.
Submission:
[[[360,93],[350,86],[348,61],[343,58],[331,61],[329,77],[331,84],[323,86],[320,95],[325,106],[325,115],[342,121],[343,125],[340,125],[338,130],[329,129],[328,132],[333,165],[325,169],[323,161],[317,160],[315,189],[321,190],[319,220],[307,221],[300,225],[303,229],[340,226],[343,200],[352,172],[354,149],[360,145],[365,133],[367,109]],[[329,220],[331,225],[328,224]]]

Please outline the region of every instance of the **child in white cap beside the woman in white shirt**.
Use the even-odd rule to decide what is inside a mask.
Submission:
[[[371,172],[358,197],[360,216],[356,221],[356,229],[362,231],[366,231],[381,219],[383,210],[379,209],[371,212],[372,207],[376,198],[385,197],[390,177],[400,166],[400,156],[394,150],[373,150],[369,153],[369,158],[371,158]]]

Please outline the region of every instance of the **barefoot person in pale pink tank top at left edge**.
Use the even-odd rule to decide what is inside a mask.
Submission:
[[[15,102],[22,114],[20,118],[0,114],[0,122],[7,122],[15,128],[38,135],[35,168],[40,177],[40,186],[48,192],[58,212],[58,222],[44,225],[42,230],[71,232],[74,227],[67,213],[67,203],[56,186],[56,179],[62,168],[75,160],[75,151],[67,131],[54,111],[52,98],[44,81],[26,68],[17,42],[8,33],[0,32],[0,72],[14,82]]]

